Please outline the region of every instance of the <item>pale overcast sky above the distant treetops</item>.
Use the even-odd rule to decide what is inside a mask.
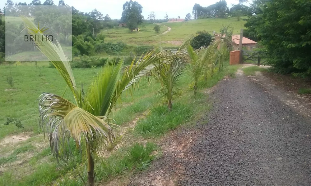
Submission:
[[[26,2],[29,4],[32,0],[20,0],[15,2]],[[43,3],[45,0],[41,0]],[[74,6],[77,10],[82,12],[91,12],[93,9],[97,9],[103,15],[108,14],[111,19],[120,19],[122,14],[123,4],[128,0],[64,0],[65,4]],[[219,0],[137,0],[142,7],[142,15],[145,19],[148,17],[149,12],[154,11],[156,13],[156,19],[164,19],[165,13],[169,15],[169,18],[178,17],[185,18],[189,12],[192,14],[192,8],[195,3],[200,4],[202,7],[207,7],[211,4],[215,4]],[[6,0],[0,0],[1,9],[4,6]],[[238,4],[238,0],[226,0],[227,6],[231,7],[231,4]],[[58,4],[58,0],[54,0],[54,4]]]

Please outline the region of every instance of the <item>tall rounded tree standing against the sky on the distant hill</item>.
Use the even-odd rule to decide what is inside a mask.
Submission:
[[[144,16],[142,16],[142,5],[139,4],[137,1],[127,1],[123,4],[123,12],[121,15],[121,22],[126,22],[133,18],[134,14],[137,19],[137,24],[142,23]]]

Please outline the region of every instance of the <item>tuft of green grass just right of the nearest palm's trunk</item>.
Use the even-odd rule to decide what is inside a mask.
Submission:
[[[145,170],[156,158],[151,153],[157,150],[159,147],[152,142],[147,142],[146,145],[135,143],[125,151],[121,149],[96,165],[96,179],[108,180],[132,171]]]

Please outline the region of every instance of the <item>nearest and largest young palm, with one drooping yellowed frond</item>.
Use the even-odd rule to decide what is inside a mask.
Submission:
[[[29,28],[37,27],[22,16]],[[40,31],[36,37],[45,37]],[[80,148],[86,146],[88,185],[94,185],[94,165],[98,149],[102,144],[112,142],[113,128],[116,125],[109,122],[109,113],[123,91],[132,86],[139,78],[148,74],[156,62],[173,60],[176,54],[169,51],[153,50],[141,57],[137,62],[122,69],[123,59],[118,63],[107,63],[89,86],[86,95],[76,86],[70,63],[61,46],[46,42],[38,49],[48,57],[61,74],[67,87],[72,92],[75,103],[51,93],[43,93],[39,97],[39,123],[43,131],[48,132],[48,138],[53,155],[66,160],[69,140],[73,139]]]

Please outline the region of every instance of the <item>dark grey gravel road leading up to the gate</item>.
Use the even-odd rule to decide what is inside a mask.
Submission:
[[[195,129],[173,133],[163,156],[130,185],[311,185],[311,122],[243,74],[222,80]]]

